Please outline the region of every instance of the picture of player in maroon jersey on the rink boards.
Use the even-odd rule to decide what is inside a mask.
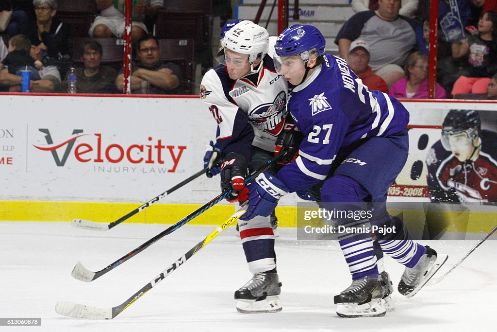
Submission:
[[[450,110],[426,154],[435,203],[497,202],[497,123],[492,111]]]

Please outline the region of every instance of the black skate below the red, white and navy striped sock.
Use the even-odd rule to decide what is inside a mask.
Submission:
[[[276,313],[283,307],[278,295],[281,283],[275,272],[260,272],[235,292],[237,310],[243,314]]]

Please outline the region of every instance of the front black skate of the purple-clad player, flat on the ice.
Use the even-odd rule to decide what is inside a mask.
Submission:
[[[385,316],[385,294],[379,275],[355,279],[347,289],[335,295],[336,314],[347,318]]]

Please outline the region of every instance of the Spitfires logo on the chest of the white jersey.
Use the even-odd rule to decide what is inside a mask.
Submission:
[[[273,136],[277,136],[283,129],[283,114],[286,109],[286,93],[281,91],[272,104],[263,104],[256,107],[248,115],[250,121]]]

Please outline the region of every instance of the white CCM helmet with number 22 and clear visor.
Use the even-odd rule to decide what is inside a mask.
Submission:
[[[226,32],[222,40],[222,50],[216,55],[219,63],[226,65],[225,49],[247,54],[251,73],[258,73],[261,65],[253,68],[255,60],[260,58],[260,62],[267,53],[269,43],[269,33],[262,26],[252,21],[242,21]]]

